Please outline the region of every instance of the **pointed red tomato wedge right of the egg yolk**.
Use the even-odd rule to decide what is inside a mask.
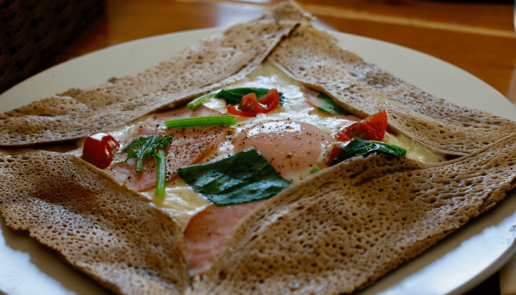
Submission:
[[[364,141],[381,141],[386,130],[387,113],[383,110],[337,132],[335,138],[339,141],[350,141],[357,137]]]

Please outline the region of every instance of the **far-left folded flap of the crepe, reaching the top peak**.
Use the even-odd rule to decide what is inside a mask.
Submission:
[[[0,146],[60,142],[109,130],[166,105],[242,79],[282,37],[310,19],[294,3],[201,40],[143,72],[86,89],[70,89],[0,115]],[[131,62],[128,60],[127,62]]]

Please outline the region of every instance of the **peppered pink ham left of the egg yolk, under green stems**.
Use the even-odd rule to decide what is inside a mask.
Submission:
[[[165,121],[170,119],[202,117],[220,115],[211,108],[200,106],[196,110],[190,110],[186,106],[174,109],[169,112],[156,113],[143,121],[138,131],[124,145],[132,143],[139,137],[152,135],[174,136],[165,148],[167,157],[167,181],[175,179],[178,175],[175,170],[187,165],[195,164],[202,160],[227,134],[225,127],[188,127],[170,128],[165,127]],[[156,159],[147,157],[143,162],[142,173],[136,173],[136,158],[125,163],[127,153],[117,154],[107,172],[115,176],[120,183],[137,191],[146,191],[156,185]]]

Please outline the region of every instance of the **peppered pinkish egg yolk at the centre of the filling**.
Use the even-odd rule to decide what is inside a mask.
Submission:
[[[259,123],[233,142],[235,151],[254,147],[283,178],[295,181],[308,174],[325,147],[334,139],[304,122],[278,120]]]

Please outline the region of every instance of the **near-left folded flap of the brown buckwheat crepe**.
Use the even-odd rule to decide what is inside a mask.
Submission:
[[[0,152],[0,188],[8,226],[28,230],[104,287],[135,295],[189,287],[178,223],[85,161]]]

